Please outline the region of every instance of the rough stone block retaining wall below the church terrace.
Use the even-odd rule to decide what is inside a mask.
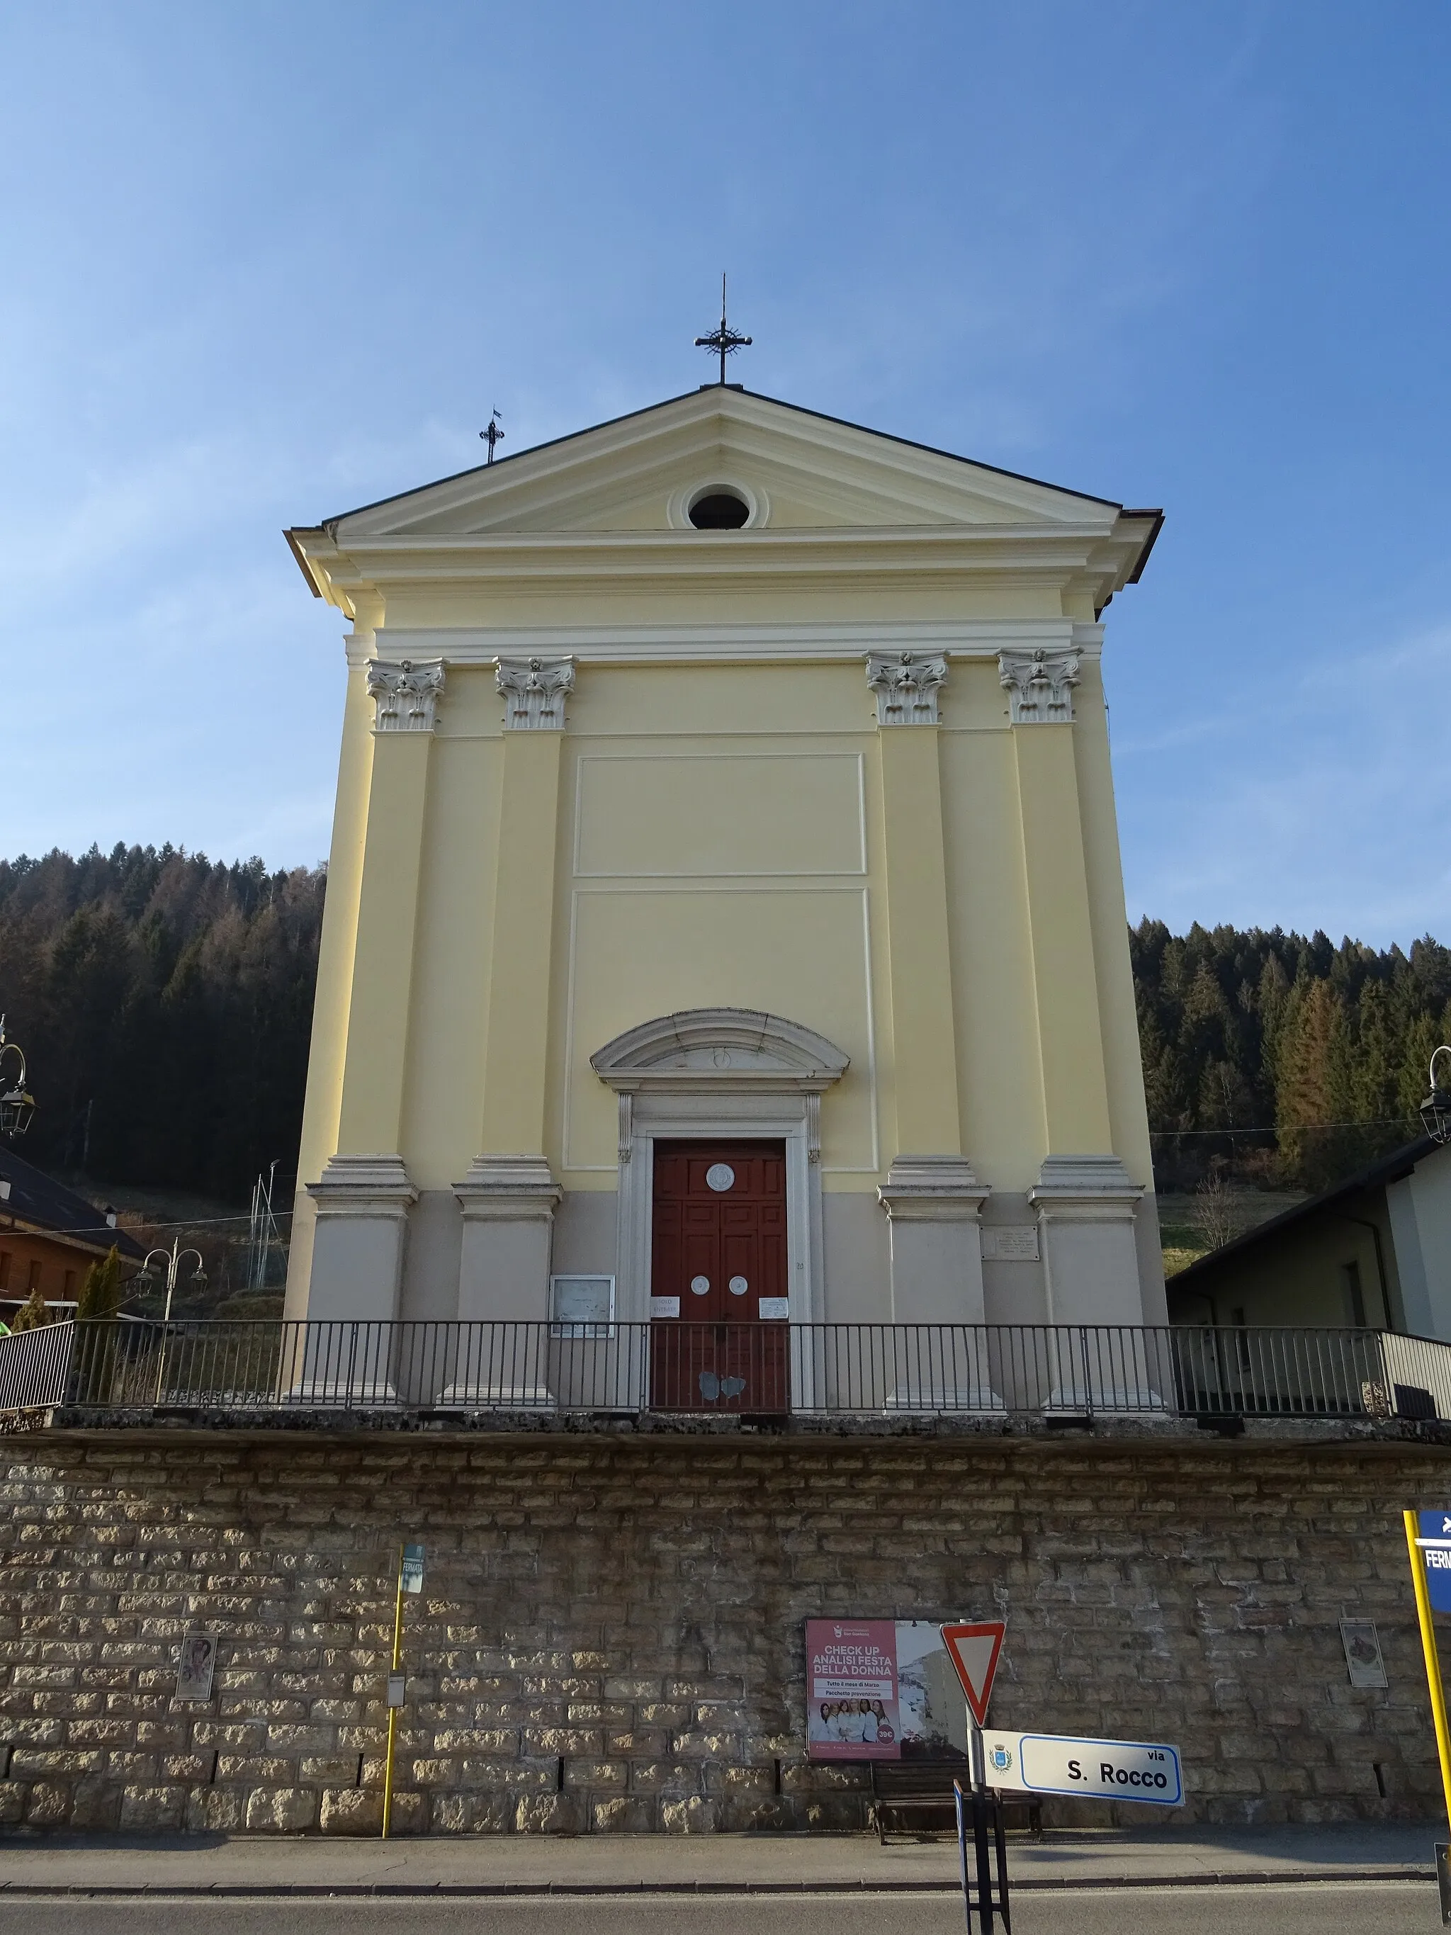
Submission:
[[[402,1538],[402,1832],[861,1829],[803,1620],[1002,1614],[992,1720],[1170,1740],[1186,1809],[1432,1815],[1401,1507],[1437,1445],[120,1432],[4,1440],[0,1823],[375,1834]],[[1389,1689],[1352,1691],[1374,1618]],[[221,1635],[213,1699],[172,1697]],[[1056,1807],[1056,1815],[1054,1815]],[[1078,1809],[1078,1813],[1074,1813]],[[1109,1809],[1049,1803],[1049,1819]]]

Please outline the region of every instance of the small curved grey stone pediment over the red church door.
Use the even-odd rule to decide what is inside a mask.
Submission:
[[[755,1089],[820,1095],[851,1066],[801,1022],[755,1008],[685,1008],[615,1035],[590,1066],[617,1091]]]

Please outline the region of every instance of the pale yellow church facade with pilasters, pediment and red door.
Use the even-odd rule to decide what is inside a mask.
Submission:
[[[710,385],[288,532],[350,623],[288,1314],[1163,1322],[1157,528]]]

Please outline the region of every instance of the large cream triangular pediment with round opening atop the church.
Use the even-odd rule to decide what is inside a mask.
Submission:
[[[751,526],[884,530],[1110,526],[1118,505],[793,404],[710,385],[557,443],[329,519],[348,546],[389,538],[606,532],[695,536],[691,499],[739,491]]]

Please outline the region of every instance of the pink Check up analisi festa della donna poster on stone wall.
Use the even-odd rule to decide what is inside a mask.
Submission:
[[[967,1705],[934,1620],[807,1620],[807,1757],[967,1755]]]

